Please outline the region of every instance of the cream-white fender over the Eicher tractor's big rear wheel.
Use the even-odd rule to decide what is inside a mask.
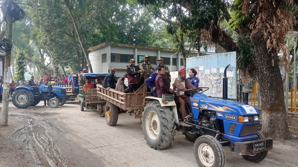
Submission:
[[[174,100],[168,101],[168,103],[162,103],[162,98],[160,98],[160,97],[147,96],[144,99],[143,107],[145,107],[146,104],[149,103],[150,101],[158,101],[162,107],[169,107],[170,110],[174,112],[175,123],[179,124],[176,103]]]

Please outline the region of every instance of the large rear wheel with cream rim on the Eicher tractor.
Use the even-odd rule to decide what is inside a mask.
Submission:
[[[165,149],[170,146],[176,135],[174,113],[168,107],[162,107],[158,101],[146,104],[142,117],[142,129],[147,144],[153,149]]]

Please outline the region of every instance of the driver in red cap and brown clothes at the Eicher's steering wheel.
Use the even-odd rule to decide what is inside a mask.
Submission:
[[[187,116],[185,104],[187,104],[188,108],[191,109],[190,105],[190,98],[184,94],[184,91],[187,89],[195,89],[196,87],[190,83],[187,79],[185,79],[186,71],[184,68],[179,70],[179,77],[175,79],[173,90],[175,91],[176,95],[179,97],[179,105],[180,111],[182,114],[182,118],[185,119]]]

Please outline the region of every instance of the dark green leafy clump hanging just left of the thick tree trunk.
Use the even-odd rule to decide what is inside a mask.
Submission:
[[[254,60],[253,43],[249,34],[243,36],[239,35],[237,45],[239,47],[237,62],[241,68],[246,68]]]

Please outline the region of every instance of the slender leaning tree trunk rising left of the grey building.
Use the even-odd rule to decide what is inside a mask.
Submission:
[[[80,35],[79,29],[77,28],[77,23],[75,22],[74,14],[72,12],[72,8],[70,6],[70,3],[69,3],[68,0],[64,0],[64,1],[65,1],[65,4],[66,4],[67,8],[68,8],[69,15],[72,18],[72,23],[73,23],[73,25],[75,27],[75,31],[77,32],[77,37],[79,38],[81,48],[82,48],[82,50],[84,52],[84,55],[85,55],[85,58],[87,60],[87,64],[88,64],[88,67],[89,67],[89,73],[93,73],[93,70],[92,70],[92,67],[91,67],[91,63],[90,63],[90,60],[89,60],[89,56],[86,53],[86,50],[85,50],[85,47],[84,47],[84,44],[83,44],[83,41],[82,41],[82,37]]]

